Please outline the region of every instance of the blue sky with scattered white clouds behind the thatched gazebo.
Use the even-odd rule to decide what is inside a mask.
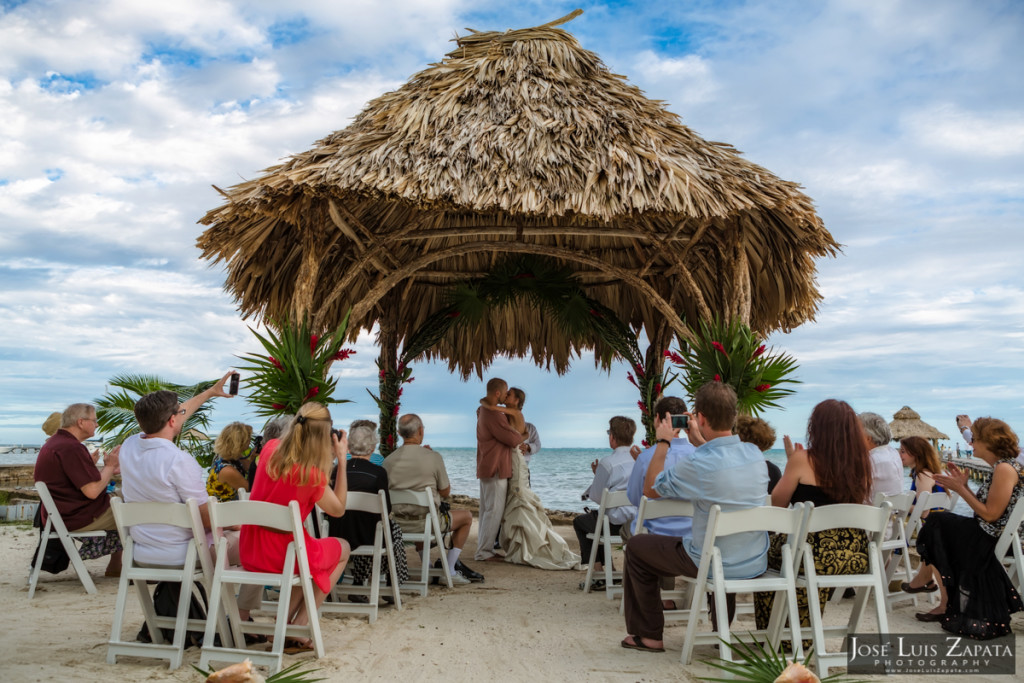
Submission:
[[[258,350],[196,248],[212,185],[344,128],[467,28],[577,7],[562,28],[585,48],[801,183],[843,245],[817,263],[816,319],[768,341],[802,381],[764,416],[779,442],[829,397],[908,404],[950,436],[958,413],[1024,432],[1024,3],[0,0],[0,443],[40,442],[115,375],[191,383]],[[336,426],[376,413],[373,335],[354,348]],[[604,447],[608,418],[639,422],[626,373],[498,358],[486,377],[525,389],[545,446]],[[401,409],[427,441],[472,445],[482,382],[415,377]],[[215,429],[261,426],[242,393]]]

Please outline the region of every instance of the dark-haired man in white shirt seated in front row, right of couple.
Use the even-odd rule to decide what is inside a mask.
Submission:
[[[630,455],[630,446],[633,445],[636,431],[637,424],[629,418],[615,416],[608,421],[608,446],[612,449],[612,452],[600,461],[595,460],[591,464],[594,480],[590,487],[584,492],[584,500],[590,499],[600,504],[605,488],[626,490],[626,484],[630,480],[630,472],[633,471],[633,457]],[[611,532],[618,533],[623,524],[629,524],[636,517],[637,509],[632,505],[624,505],[609,508],[605,513]],[[580,541],[580,554],[583,561],[588,562],[594,540],[588,539],[587,535],[593,533],[597,529],[597,510],[578,515],[572,520],[572,528],[577,533],[577,540]],[[604,561],[604,548],[598,546],[594,568],[603,568]]]

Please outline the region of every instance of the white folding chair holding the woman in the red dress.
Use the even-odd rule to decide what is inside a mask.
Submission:
[[[206,669],[210,661],[236,663],[249,658],[253,664],[269,667],[270,672],[281,669],[284,655],[285,637],[306,637],[313,641],[316,657],[324,656],[324,638],[321,633],[319,613],[313,608],[312,578],[309,573],[309,561],[306,557],[305,536],[302,521],[299,518],[299,504],[292,501],[288,507],[263,503],[259,501],[232,501],[218,503],[211,498],[207,503],[210,513],[210,526],[217,539],[216,560],[213,572],[213,587],[210,590],[210,608],[207,612],[206,635],[203,638],[203,652],[200,655],[200,668]],[[285,553],[285,561],[281,572],[246,571],[232,569],[227,564],[227,538],[222,529],[228,526],[252,524],[290,535],[291,543]],[[298,572],[295,569],[298,567]],[[276,622],[258,624],[243,623],[239,616],[239,604],[234,597],[236,586],[270,586],[275,587],[281,598],[278,600]],[[309,624],[296,626],[288,623],[289,596],[293,588],[300,588],[302,599],[308,605]],[[214,644],[213,632],[217,618],[226,613],[230,625],[231,639],[234,647],[217,646]],[[243,645],[245,633],[272,635],[273,644],[269,651],[249,650]],[[242,645],[242,646],[240,646]]]

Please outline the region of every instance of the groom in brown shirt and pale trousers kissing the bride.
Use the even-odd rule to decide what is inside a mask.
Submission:
[[[508,384],[503,379],[487,381],[488,405],[504,403]],[[476,560],[501,560],[494,546],[505,512],[505,495],[512,477],[512,449],[522,442],[522,435],[509,425],[508,418],[497,411],[476,409],[476,478],[480,480],[480,524],[476,538]]]

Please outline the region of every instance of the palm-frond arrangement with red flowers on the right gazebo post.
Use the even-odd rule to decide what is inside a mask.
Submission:
[[[763,339],[738,321],[701,321],[695,337],[678,353],[665,352],[680,368],[683,387],[691,397],[708,382],[724,382],[736,390],[740,414],[756,417],[766,409],[781,408],[778,401],[794,393],[784,385],[800,383],[793,378],[796,358],[768,349]]]

